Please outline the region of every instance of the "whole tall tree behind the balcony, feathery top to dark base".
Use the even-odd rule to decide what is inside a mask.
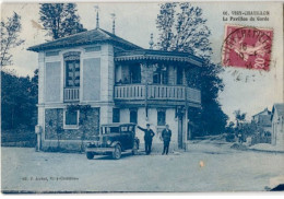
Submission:
[[[204,63],[200,69],[187,70],[188,85],[201,90],[202,108],[194,122],[199,124],[200,134],[222,133],[228,118],[218,103],[218,93],[224,89],[218,74],[223,69],[210,61],[211,32],[202,16],[202,9],[188,2],[163,3],[156,27],[159,31],[158,49],[185,51],[203,58]]]

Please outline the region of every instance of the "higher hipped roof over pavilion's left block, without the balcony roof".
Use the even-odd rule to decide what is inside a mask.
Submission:
[[[56,49],[62,47],[88,45],[88,44],[97,44],[97,43],[106,43],[106,42],[114,43],[118,46],[121,46],[126,50],[142,49],[140,46],[137,46],[123,38],[120,38],[105,30],[95,28],[95,30],[78,33],[71,36],[67,36],[63,38],[58,38],[56,40],[48,42],[45,44],[32,46],[27,48],[27,50],[42,51],[47,49]]]

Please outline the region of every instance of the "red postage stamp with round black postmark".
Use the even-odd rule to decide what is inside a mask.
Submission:
[[[226,25],[222,47],[224,67],[269,70],[273,30]]]

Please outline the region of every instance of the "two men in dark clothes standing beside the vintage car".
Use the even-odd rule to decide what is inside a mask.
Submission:
[[[145,129],[140,127],[140,126],[138,126],[138,128],[140,130],[144,131],[145,152],[149,155],[151,153],[152,141],[153,141],[153,137],[155,136],[155,133],[150,128],[150,124],[146,124],[146,128]],[[163,139],[163,142],[164,142],[164,150],[163,150],[162,155],[168,154],[168,148],[169,148],[170,138],[171,138],[171,130],[169,129],[169,126],[166,125],[166,128],[163,129],[163,131],[162,131],[162,139]]]

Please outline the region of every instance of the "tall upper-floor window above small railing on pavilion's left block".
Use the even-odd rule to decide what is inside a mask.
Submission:
[[[70,51],[63,55],[66,66],[66,87],[80,86],[80,52]]]

